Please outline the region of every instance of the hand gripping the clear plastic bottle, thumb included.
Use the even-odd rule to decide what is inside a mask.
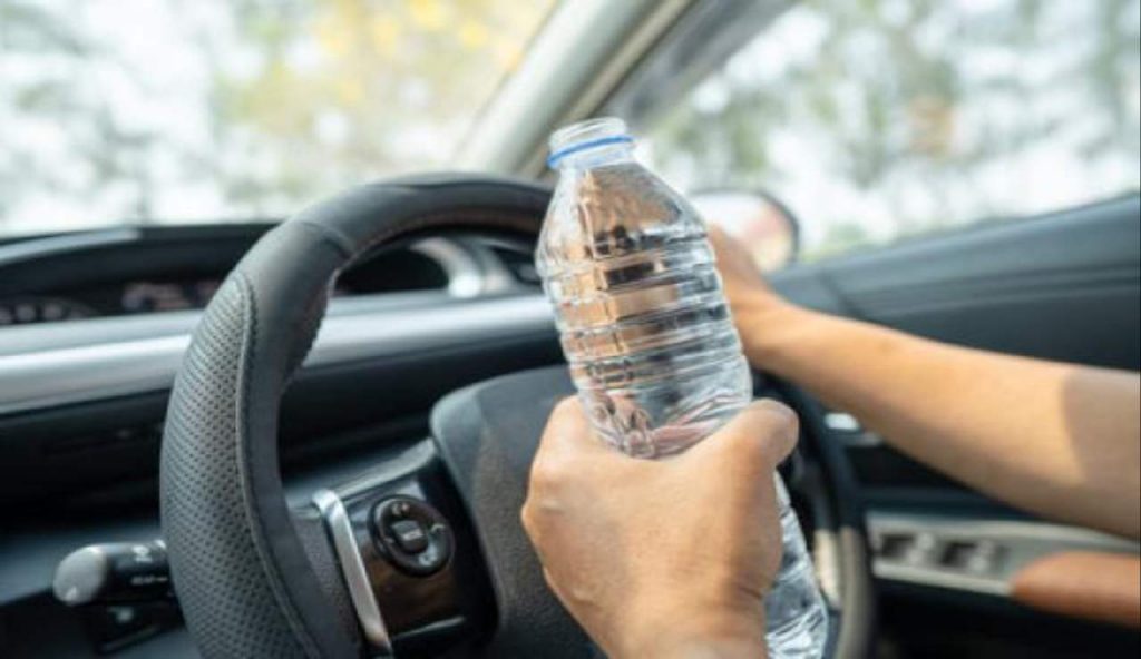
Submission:
[[[551,414],[523,523],[547,581],[609,657],[764,656],[780,563],[774,470],[796,441],[761,400],[686,453],[606,446],[575,399]]]

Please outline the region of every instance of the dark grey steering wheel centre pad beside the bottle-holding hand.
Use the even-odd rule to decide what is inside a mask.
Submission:
[[[573,393],[566,366],[549,366],[471,384],[432,408],[432,440],[474,522],[495,592],[496,634],[484,657],[601,656],[548,587],[519,521],[547,420]]]

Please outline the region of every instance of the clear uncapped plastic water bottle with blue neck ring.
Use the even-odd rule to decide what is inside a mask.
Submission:
[[[550,139],[559,171],[536,252],[563,351],[598,433],[659,458],[710,436],[752,399],[705,225],[633,158],[617,119]],[[784,556],[764,601],[770,657],[820,657],[827,612],[777,478]]]

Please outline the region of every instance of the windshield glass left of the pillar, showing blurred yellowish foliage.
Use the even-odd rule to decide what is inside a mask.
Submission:
[[[445,169],[555,0],[0,3],[0,236]]]

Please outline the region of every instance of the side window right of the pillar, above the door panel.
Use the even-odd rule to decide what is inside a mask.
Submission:
[[[1079,205],[1139,189],[1139,22],[1138,0],[808,0],[640,132],[682,189],[782,198],[806,260]]]

